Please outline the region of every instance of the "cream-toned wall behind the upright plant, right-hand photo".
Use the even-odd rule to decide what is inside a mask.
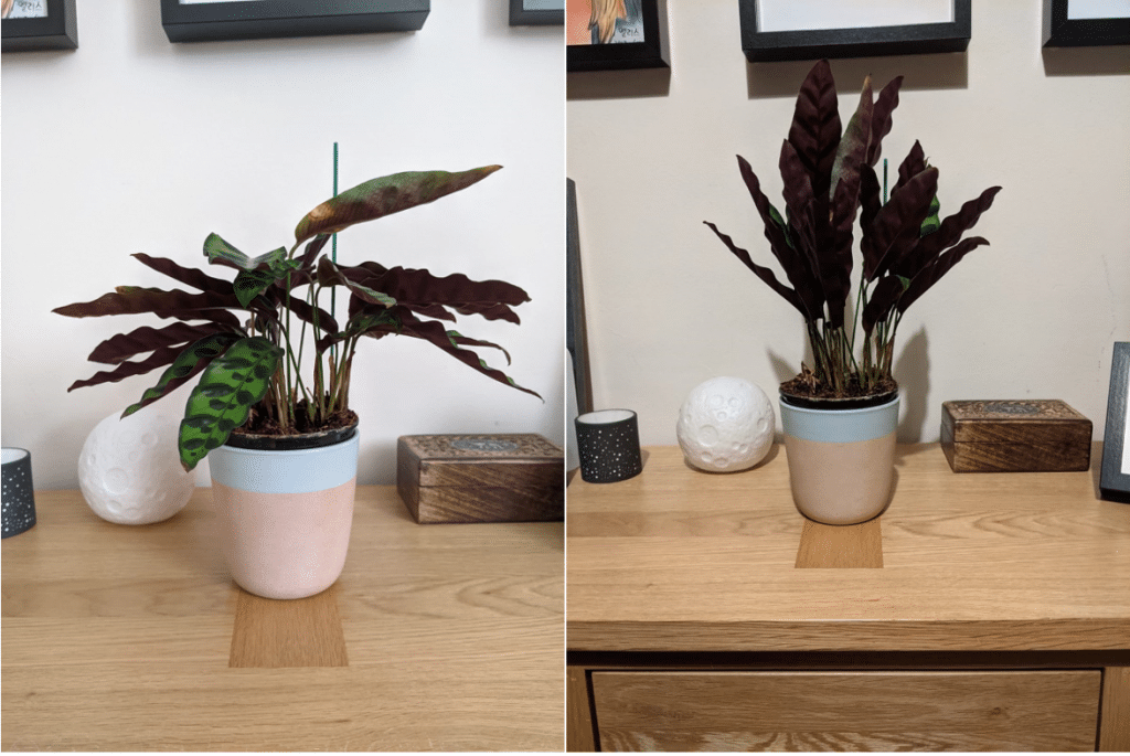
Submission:
[[[675,443],[683,400],[715,375],[775,403],[805,355],[798,313],[702,221],[777,269],[734,155],[780,195],[811,62],[747,63],[734,0],[668,9],[669,76],[567,82],[594,401],[637,410],[645,444]],[[1112,344],[1130,340],[1130,47],[1042,53],[1040,16],[1038,0],[974,0],[965,54],[832,63],[844,122],[867,73],[876,90],[905,75],[884,155],[895,175],[921,140],[944,216],[1003,186],[971,232],[991,246],[899,328],[903,441],[936,441],[951,399],[1063,399],[1103,437]]]

